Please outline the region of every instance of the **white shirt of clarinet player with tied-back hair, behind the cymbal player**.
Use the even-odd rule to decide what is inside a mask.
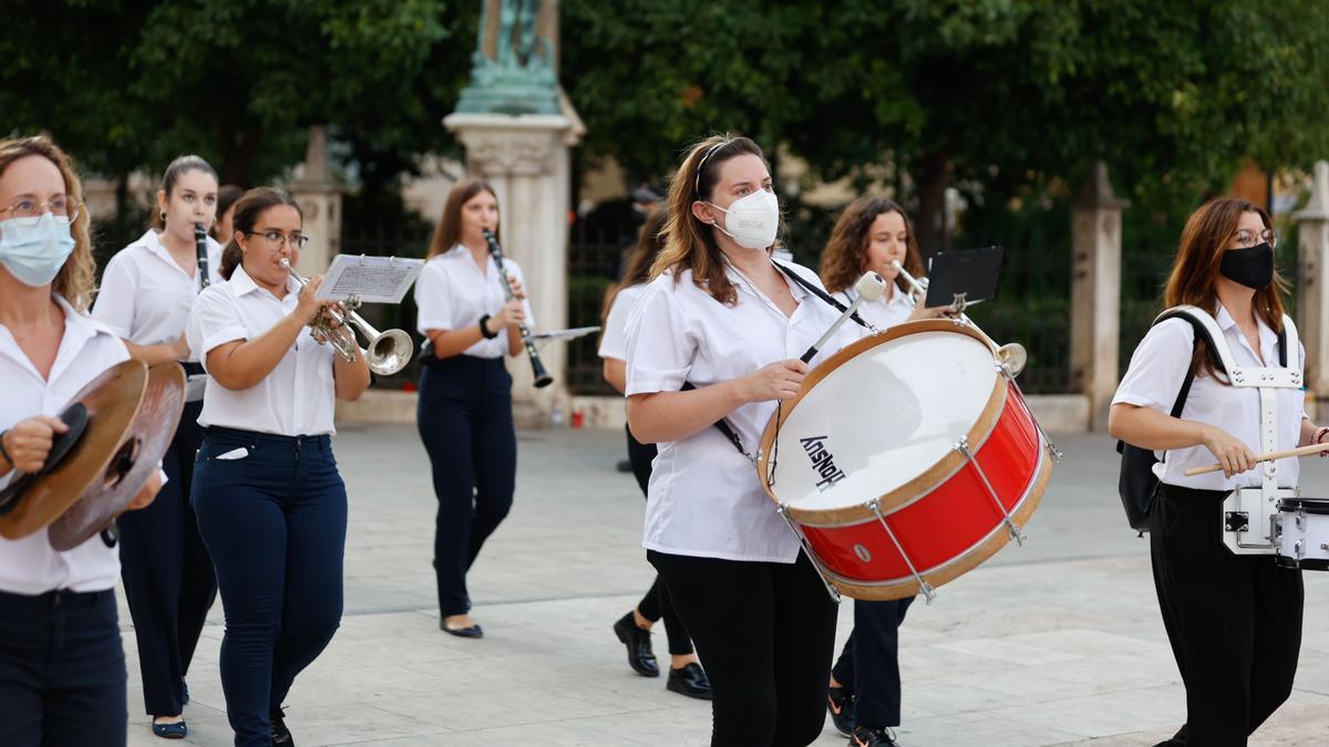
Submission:
[[[222,245],[207,238],[207,276],[221,282]],[[116,253],[101,278],[93,319],[136,346],[175,342],[199,291],[199,271],[190,276],[162,246],[161,235],[149,230],[138,241]],[[190,362],[198,352],[190,351]]]

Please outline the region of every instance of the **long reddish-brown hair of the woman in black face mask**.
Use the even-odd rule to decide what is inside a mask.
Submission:
[[[1167,307],[1189,304],[1217,314],[1219,266],[1244,213],[1259,213],[1264,227],[1273,229],[1273,221],[1263,207],[1239,197],[1211,199],[1187,218],[1185,227],[1181,229],[1181,242],[1176,249],[1176,261],[1172,263],[1172,274],[1167,279],[1164,292]],[[1286,290],[1286,283],[1275,270],[1273,282],[1255,291],[1252,302],[1255,312],[1275,332],[1282,331],[1282,294]],[[1196,347],[1191,370],[1213,376],[1213,363],[1204,347],[1203,342]]]

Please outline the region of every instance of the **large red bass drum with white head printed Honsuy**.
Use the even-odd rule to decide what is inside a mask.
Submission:
[[[828,584],[930,598],[1023,541],[1055,457],[991,342],[928,320],[809,372],[767,425],[758,472]]]

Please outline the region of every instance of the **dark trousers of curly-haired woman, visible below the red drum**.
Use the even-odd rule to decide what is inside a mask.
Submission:
[[[853,602],[853,633],[831,674],[853,693],[856,726],[900,726],[900,623],[913,601]]]

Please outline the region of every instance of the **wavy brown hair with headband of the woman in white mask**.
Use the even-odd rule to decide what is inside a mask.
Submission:
[[[762,148],[746,137],[711,136],[687,152],[664,198],[668,218],[662,233],[666,241],[651,266],[651,278],[672,270],[676,283],[683,270],[691,270],[692,283],[710,292],[711,298],[726,306],[738,303],[734,283],[724,272],[724,254],[711,233],[714,227],[692,215],[692,202],[710,201],[720,179],[720,166],[743,154],[756,156],[767,170],[771,169]]]

